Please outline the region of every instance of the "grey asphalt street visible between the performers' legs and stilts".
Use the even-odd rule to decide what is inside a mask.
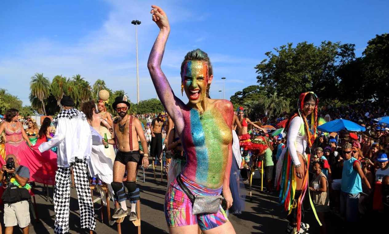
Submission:
[[[142,171],[138,171],[138,186],[141,190],[141,216],[142,216],[142,233],[167,233],[165,215],[163,212],[163,202],[166,188],[166,178],[163,182],[160,182],[160,174],[157,176],[157,181],[154,181],[152,168],[145,172],[146,179],[143,183]],[[287,221],[285,220],[285,214],[282,212],[282,207],[277,206],[278,198],[276,195],[268,195],[260,193],[259,180],[254,180],[254,192],[252,195],[252,202],[249,201],[249,197],[246,199],[246,208],[242,215],[230,215],[229,218],[233,224],[237,233],[285,233]],[[35,191],[35,198],[38,206],[39,220],[37,223],[32,220],[30,224],[30,233],[47,234],[53,233],[54,226],[54,206],[51,202],[46,202],[43,186],[37,184]],[[248,191],[248,186],[247,186]],[[52,197],[53,191],[50,187],[50,196]],[[247,192],[248,194],[248,192]],[[97,192],[95,192],[97,195]],[[97,196],[94,197],[96,199]],[[129,202],[128,206],[130,205]],[[75,189],[71,189],[70,200],[70,231],[69,233],[89,233],[88,230],[82,230],[80,228],[79,208],[77,203],[77,194]],[[96,217],[100,214],[100,202],[95,203]],[[111,201],[111,214],[113,212],[113,202]],[[117,225],[109,226],[107,222],[107,213],[104,206],[104,223],[101,223],[99,219],[96,220],[96,234],[116,233]],[[0,215],[0,221],[3,223],[3,215]],[[340,218],[335,215],[328,215],[328,233],[339,233]],[[306,213],[305,220],[310,223],[311,228],[309,233],[319,233],[319,225],[315,222],[313,213]],[[121,225],[122,233],[137,233],[137,227],[134,227],[128,219],[124,220]],[[4,230],[4,225],[3,225]],[[14,233],[21,233],[15,228]]]

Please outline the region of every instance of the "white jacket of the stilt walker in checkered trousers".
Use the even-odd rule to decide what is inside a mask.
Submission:
[[[70,167],[76,158],[89,159],[92,151],[92,135],[88,121],[79,116],[58,118],[54,137],[39,146],[43,152],[58,147],[58,167]]]

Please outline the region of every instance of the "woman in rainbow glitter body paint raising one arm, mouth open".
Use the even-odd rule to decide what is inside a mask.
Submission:
[[[176,97],[161,62],[170,33],[169,21],[160,7],[151,6],[152,20],[160,31],[151,49],[148,68],[152,82],[187,154],[180,173],[183,183],[193,194],[216,196],[223,190],[227,208],[233,202],[229,188],[232,160],[233,106],[227,100],[210,99],[212,65],[208,55],[196,49],[187,53],[181,65],[181,90],[189,102]],[[192,202],[175,179],[165,195],[165,216],[170,233],[197,233],[198,226],[206,234],[235,233],[223,210],[216,214],[192,215]]]

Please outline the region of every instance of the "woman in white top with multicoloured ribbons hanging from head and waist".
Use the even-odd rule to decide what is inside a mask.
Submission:
[[[301,206],[308,187],[307,165],[309,165],[310,147],[316,138],[318,102],[313,92],[300,95],[297,110],[286,124],[287,148],[282,152],[277,163],[277,171],[280,171],[277,173],[279,177],[276,177],[280,188],[279,198],[288,213],[288,233],[296,233],[300,229],[305,231],[309,228],[308,224],[301,222]],[[309,124],[307,119],[310,121]]]

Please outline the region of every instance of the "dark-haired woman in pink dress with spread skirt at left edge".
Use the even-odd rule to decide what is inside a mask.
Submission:
[[[53,160],[54,155],[50,155],[51,151],[41,154],[38,150],[39,144],[32,146],[18,118],[19,111],[9,109],[5,123],[0,126],[0,132],[5,131],[5,154],[15,155],[20,165],[28,167],[32,181],[54,185],[57,170],[56,160]],[[4,165],[5,161],[0,159],[0,164]]]

